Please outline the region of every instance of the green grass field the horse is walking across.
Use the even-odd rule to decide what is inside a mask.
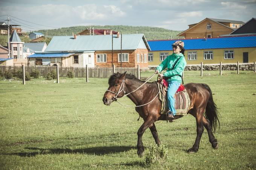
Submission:
[[[143,72],[147,77],[153,72]],[[206,130],[197,153],[188,154],[196,137],[193,116],[173,123],[156,122],[166,164],[144,164],[137,156],[137,130],[142,124],[134,108],[117,102],[103,105],[107,79],[44,78],[0,80],[0,169],[255,169],[256,74],[250,71],[186,71],[184,83],[206,83],[219,108],[219,149]],[[210,74],[210,75],[209,75]],[[154,77],[156,78],[156,77]],[[128,98],[120,102],[133,105]],[[145,153],[154,139],[143,135]]]

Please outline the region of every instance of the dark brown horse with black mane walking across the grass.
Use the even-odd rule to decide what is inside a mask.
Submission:
[[[137,79],[134,75],[126,74],[126,72],[123,74],[117,72],[109,78],[109,87],[102,99],[105,105],[110,105],[111,102],[116,101],[117,98],[121,98],[125,93],[127,94],[132,92],[127,96],[136,106],[146,104],[141,107],[136,107],[135,109],[139,113],[139,116],[144,120],[137,133],[137,154],[139,156],[143,156],[144,152],[142,135],[145,130],[149,128],[155,139],[155,143],[160,145],[160,140],[158,138],[154,122],[157,120],[166,120],[166,116],[160,114],[160,100],[158,98],[154,99],[158,94],[157,83],[145,83],[141,86],[143,83],[145,83],[145,81]],[[138,87],[140,88],[136,90]],[[215,131],[217,123],[219,123],[218,111],[216,104],[213,102],[210,87],[207,84],[196,83],[185,84],[184,87],[186,88],[191,101],[188,113],[192,114],[197,122],[197,138],[193,147],[188,149],[187,152],[198,151],[204,127],[207,129],[209,141],[212,144],[212,147],[217,149],[218,141],[212,133],[212,128]],[[147,104],[148,102],[150,103]],[[180,117],[182,116],[175,116],[174,119],[178,119]]]

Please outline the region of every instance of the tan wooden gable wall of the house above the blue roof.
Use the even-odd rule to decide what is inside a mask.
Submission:
[[[207,24],[212,24],[212,30],[207,30]],[[181,36],[185,36],[186,39],[189,38],[204,38],[207,35],[212,35],[212,37],[218,37],[220,35],[227,35],[233,30],[229,29],[221,24],[218,24],[212,20],[205,20],[198,26],[191,28]]]

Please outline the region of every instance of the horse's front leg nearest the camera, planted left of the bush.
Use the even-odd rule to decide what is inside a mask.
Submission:
[[[142,135],[143,133],[146,131],[146,129],[152,125],[152,123],[154,123],[155,120],[152,119],[152,117],[147,117],[144,120],[144,123],[140,126],[137,134],[138,134],[138,142],[137,142],[137,154],[142,157],[143,156],[143,152],[144,152],[144,147],[143,147],[143,143],[142,143]]]

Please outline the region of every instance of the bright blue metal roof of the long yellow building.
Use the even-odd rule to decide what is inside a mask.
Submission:
[[[153,40],[148,41],[148,44],[151,51],[171,51],[175,41],[183,41],[185,50],[256,47],[256,36]]]

